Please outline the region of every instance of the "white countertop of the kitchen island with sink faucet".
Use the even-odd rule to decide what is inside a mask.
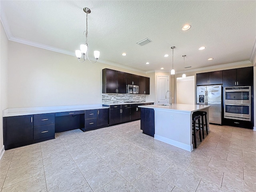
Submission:
[[[190,104],[172,104],[172,105],[142,105],[141,108],[152,108],[155,110],[170,110],[170,111],[184,111],[194,112],[210,107],[210,105],[190,105]]]

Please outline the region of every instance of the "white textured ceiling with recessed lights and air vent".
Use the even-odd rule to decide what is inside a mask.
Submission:
[[[89,56],[139,71],[182,72],[235,62],[255,54],[256,1],[12,1],[1,0],[1,20],[10,40],[74,55],[85,43]],[[190,30],[182,31],[184,24]],[[139,46],[136,42],[152,42]],[[205,50],[198,48],[206,46]],[[127,56],[122,56],[126,52]],[[164,54],[169,54],[165,58]],[[208,61],[208,58],[214,58]],[[74,60],[76,58],[74,57]],[[145,63],[150,64],[146,65]]]

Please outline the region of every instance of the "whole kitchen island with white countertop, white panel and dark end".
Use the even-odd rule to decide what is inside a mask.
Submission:
[[[145,134],[149,132],[157,140],[192,151],[192,114],[202,110],[207,112],[208,118],[209,107],[209,105],[190,104],[140,106],[141,129],[144,133],[146,128]]]

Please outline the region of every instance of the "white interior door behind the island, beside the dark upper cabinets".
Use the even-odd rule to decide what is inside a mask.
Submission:
[[[156,81],[157,103],[168,103],[166,92],[169,90],[169,76],[157,76]],[[167,94],[168,97],[169,95]]]

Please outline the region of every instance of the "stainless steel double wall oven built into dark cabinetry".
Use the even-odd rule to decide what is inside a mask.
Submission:
[[[225,87],[224,118],[251,120],[251,87]]]

